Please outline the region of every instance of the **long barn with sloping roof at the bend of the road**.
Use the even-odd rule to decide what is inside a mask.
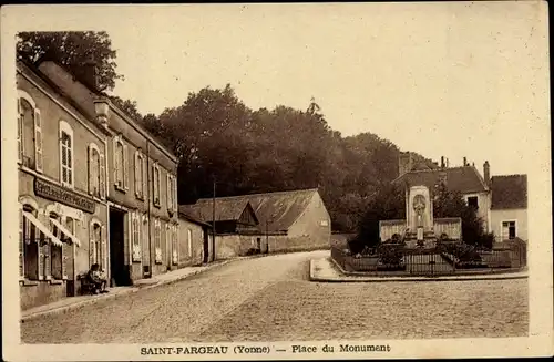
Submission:
[[[204,210],[197,217],[206,223],[212,219],[212,199],[206,198],[195,204]],[[216,242],[217,257],[244,255],[250,249],[258,252],[283,252],[325,249],[330,246],[331,220],[318,189],[219,197],[215,204],[216,215],[219,203],[228,208],[225,210],[225,215],[228,215],[226,218],[249,215],[247,218],[253,220],[246,223],[250,223],[247,228],[235,231],[233,224],[230,228],[223,224],[224,230],[228,232],[227,240],[233,238],[234,241],[222,242],[228,251],[217,250],[219,242]],[[248,205],[252,206],[253,215]],[[195,208],[186,207],[193,210]],[[254,228],[254,218],[258,221],[257,228]],[[220,238],[219,232],[216,225],[216,239]],[[228,248],[229,245],[234,247]]]

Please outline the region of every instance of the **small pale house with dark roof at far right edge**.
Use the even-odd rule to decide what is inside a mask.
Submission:
[[[491,228],[495,241],[527,240],[527,176],[505,175],[491,178]]]

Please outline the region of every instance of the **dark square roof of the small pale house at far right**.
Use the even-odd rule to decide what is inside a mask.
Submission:
[[[491,209],[527,208],[527,175],[491,178]]]

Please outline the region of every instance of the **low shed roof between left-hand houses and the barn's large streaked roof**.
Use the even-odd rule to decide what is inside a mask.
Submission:
[[[193,205],[181,205],[179,213],[193,216],[203,221],[212,221],[214,213],[214,200],[203,198]],[[215,220],[216,221],[237,221],[240,219],[244,210],[248,208],[247,199],[235,199],[219,197],[215,199]],[[252,208],[252,206],[249,206]]]

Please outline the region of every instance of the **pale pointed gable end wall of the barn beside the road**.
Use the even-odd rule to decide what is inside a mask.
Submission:
[[[331,239],[331,218],[319,193],[315,193],[310,203],[288,229],[291,248],[329,247]]]

